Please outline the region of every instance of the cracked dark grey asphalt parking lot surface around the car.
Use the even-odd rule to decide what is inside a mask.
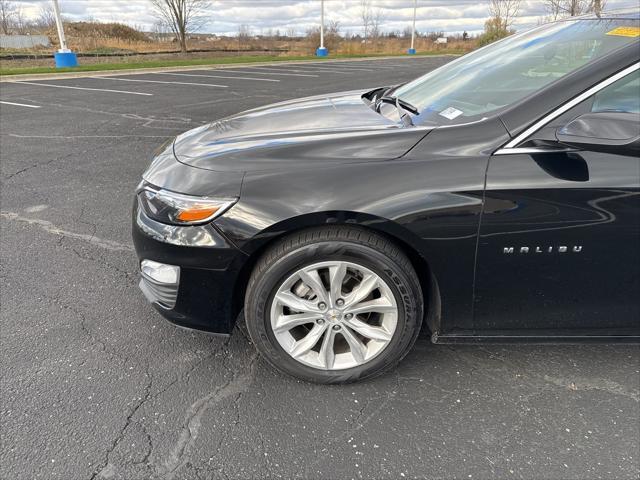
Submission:
[[[0,103],[0,478],[638,478],[638,346],[423,337],[382,378],[317,386],[137,289],[132,192],[166,139],[448,60],[0,84],[23,105]]]

